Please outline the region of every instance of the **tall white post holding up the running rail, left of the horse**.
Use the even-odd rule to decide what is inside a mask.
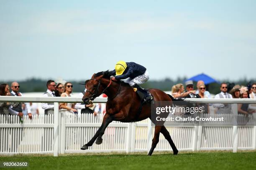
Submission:
[[[54,156],[58,156],[59,150],[59,103],[54,102]]]

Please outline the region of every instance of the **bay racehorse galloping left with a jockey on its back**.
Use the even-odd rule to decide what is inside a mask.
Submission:
[[[159,89],[148,89],[148,91],[154,96],[154,101],[172,102],[179,100],[174,99],[171,95],[167,95]],[[89,104],[91,100],[94,100],[95,97],[100,96],[102,93],[108,96],[106,114],[103,117],[102,125],[92,139],[82,146],[82,150],[86,150],[88,147],[92,146],[96,139],[95,143],[100,145],[102,143],[102,135],[112,121],[137,122],[147,119],[148,117],[151,119],[151,105],[141,105],[141,99],[136,92],[134,92],[133,88],[125,82],[111,80],[109,71],[98,72],[92,75],[92,78],[87,82],[87,91],[82,100],[85,104]],[[148,155],[152,155],[156,148],[160,133],[168,140],[172,147],[173,154],[177,155],[178,150],[164,125],[155,126],[154,138]]]

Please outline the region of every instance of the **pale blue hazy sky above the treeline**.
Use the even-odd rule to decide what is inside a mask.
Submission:
[[[86,80],[119,60],[150,80],[256,79],[255,0],[0,0],[0,80]]]

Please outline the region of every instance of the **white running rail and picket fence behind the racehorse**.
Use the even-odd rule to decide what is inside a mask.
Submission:
[[[255,99],[189,99],[200,103],[256,103]],[[9,97],[0,96],[0,102],[54,102],[54,115],[18,116],[0,115],[0,154],[17,153],[88,153],[148,151],[154,136],[150,120],[135,123],[112,122],[103,135],[101,145],[80,150],[100,127],[102,114],[74,115],[59,110],[59,102],[82,102],[79,97]],[[105,103],[106,98],[95,102]],[[227,115],[223,115],[227,116]],[[243,115],[238,115],[244,118]],[[255,118],[249,115],[247,118]],[[178,150],[255,150],[256,126],[175,126],[166,127]],[[160,135],[155,150],[172,151]]]

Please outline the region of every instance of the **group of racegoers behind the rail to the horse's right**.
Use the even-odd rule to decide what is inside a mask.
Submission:
[[[197,90],[194,90],[192,80],[186,81],[185,85],[185,91],[182,84],[174,85],[172,87],[172,96],[183,98],[211,98],[210,92],[206,90],[205,83],[202,80],[197,82]],[[240,85],[231,85],[230,87],[229,83],[223,82],[220,85],[220,93],[213,98],[256,98],[256,83],[248,85],[247,87]],[[213,104],[213,107],[217,109],[216,113],[227,113],[231,111],[231,105],[228,104],[218,103]],[[256,104],[238,104],[238,113],[248,115],[253,112],[256,112]]]

